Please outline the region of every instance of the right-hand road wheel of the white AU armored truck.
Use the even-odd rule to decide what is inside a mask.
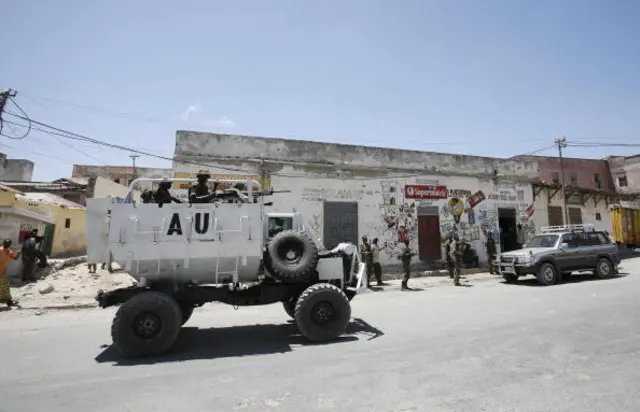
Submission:
[[[314,342],[330,341],[347,330],[351,305],[340,288],[329,283],[318,283],[300,295],[295,319],[305,338]]]

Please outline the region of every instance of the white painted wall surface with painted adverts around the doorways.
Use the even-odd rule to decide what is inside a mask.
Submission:
[[[193,173],[197,166],[175,163],[176,172]],[[233,174],[233,171],[222,168],[210,168],[212,174]],[[442,200],[410,200],[404,198],[404,186],[410,184],[445,185],[448,189],[462,189],[475,193],[482,190],[487,197],[478,204],[474,211],[475,222],[469,223],[469,215],[464,214],[459,226],[465,239],[478,252],[481,262],[486,262],[484,236],[482,227],[497,225],[497,208],[514,207],[518,220],[531,232],[535,231],[533,220],[526,216],[526,209],[533,202],[533,192],[529,184],[500,184],[498,187],[492,180],[476,177],[428,175],[401,178],[320,178],[307,177],[294,170],[293,167],[283,166],[277,174],[271,176],[274,190],[290,190],[291,193],[276,194],[268,201],[274,206],[269,212],[290,212],[295,209],[304,215],[306,224],[318,238],[323,237],[323,201],[357,201],[358,202],[358,235],[369,238],[378,237],[382,245],[386,244],[381,253],[383,265],[398,264],[394,252],[398,248],[397,223],[389,227],[389,222],[404,222],[409,229],[411,247],[418,250],[417,213],[407,206],[419,205],[437,206],[440,211],[441,233],[448,232],[454,225],[453,216],[448,213],[447,201]],[[395,186],[395,193],[389,188]],[[178,192],[178,191],[176,191]],[[502,196],[500,196],[502,193]],[[180,195],[182,193],[176,193]],[[395,205],[390,198],[395,197]],[[407,211],[407,209],[409,211]],[[444,252],[443,252],[444,256]]]

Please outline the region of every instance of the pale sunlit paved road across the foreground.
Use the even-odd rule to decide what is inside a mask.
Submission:
[[[175,353],[137,365],[108,346],[112,310],[0,313],[0,410],[640,410],[640,276],[469,280],[363,295],[328,345],[279,306],[210,305]]]

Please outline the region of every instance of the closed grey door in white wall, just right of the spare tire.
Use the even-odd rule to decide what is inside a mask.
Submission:
[[[342,242],[358,242],[358,202],[324,202],[323,243],[331,250]]]

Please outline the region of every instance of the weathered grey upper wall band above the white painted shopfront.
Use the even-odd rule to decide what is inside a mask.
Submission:
[[[275,169],[304,163],[305,174],[317,177],[326,177],[327,174],[344,176],[353,171],[364,174],[381,168],[386,171],[411,170],[425,175],[446,173],[493,177],[497,174],[524,180],[538,174],[535,162],[518,160],[216,133],[176,133],[174,160],[178,162],[189,159],[208,164],[219,159],[225,160],[228,169],[242,169],[247,163],[256,164],[261,156]],[[296,172],[296,168],[293,171]]]

